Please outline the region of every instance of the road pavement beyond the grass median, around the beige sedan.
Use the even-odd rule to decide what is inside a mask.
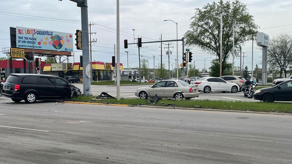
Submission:
[[[83,92],[83,84],[73,83]],[[135,96],[135,91],[141,87],[148,87],[150,85],[130,85],[130,86],[120,86],[120,97],[123,98],[139,98]],[[117,97],[117,87],[116,86],[106,86],[106,85],[91,85],[91,93],[93,95],[99,95],[101,92],[108,92],[109,95]],[[259,100],[249,99],[244,97],[242,92],[237,93],[222,93],[222,92],[211,92],[211,93],[200,93],[198,98],[192,98],[192,100],[225,100],[225,101],[254,101],[260,102]]]

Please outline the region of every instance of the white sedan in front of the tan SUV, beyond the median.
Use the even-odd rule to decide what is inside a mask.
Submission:
[[[236,83],[227,82],[218,77],[202,77],[194,82],[191,85],[196,85],[199,87],[199,91],[204,93],[210,92],[231,92],[236,93],[239,91],[239,85]]]

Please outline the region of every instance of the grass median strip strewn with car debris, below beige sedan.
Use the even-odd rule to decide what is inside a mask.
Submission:
[[[218,110],[242,110],[242,111],[257,111],[257,112],[274,112],[274,113],[292,113],[291,103],[264,103],[264,102],[243,102],[243,101],[211,101],[211,100],[170,100],[162,99],[152,105],[150,100],[141,99],[100,99],[93,100],[96,96],[79,96],[73,100],[76,102],[90,102],[103,104],[125,104],[125,105],[150,105],[150,106],[167,106],[167,107],[182,107],[182,108],[203,108],[203,109],[218,109]]]

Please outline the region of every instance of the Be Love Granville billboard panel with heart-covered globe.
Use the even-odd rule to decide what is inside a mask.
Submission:
[[[72,33],[16,27],[16,47],[56,51],[73,51]],[[33,42],[34,41],[34,42]]]

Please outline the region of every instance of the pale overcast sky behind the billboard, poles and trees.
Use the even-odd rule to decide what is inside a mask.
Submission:
[[[178,24],[178,39],[181,39],[189,30],[191,17],[194,16],[195,8],[202,8],[211,0],[120,0],[119,24],[120,24],[120,63],[124,68],[138,67],[138,48],[128,45],[124,49],[123,40],[134,43],[134,38],[142,37],[142,42],[176,39],[176,24]],[[216,0],[215,2],[218,2]],[[226,1],[224,1],[226,2]],[[242,0],[247,5],[248,12],[254,16],[255,23],[260,27],[259,32],[269,35],[269,38],[287,33],[292,35],[291,0]],[[87,0],[88,21],[91,25],[92,61],[111,62],[114,55],[114,44],[117,46],[117,1],[116,0]],[[220,17],[220,16],[218,16]],[[10,47],[9,27],[27,27],[43,30],[72,33],[75,37],[76,29],[81,29],[81,11],[75,2],[69,0],[9,0],[1,2],[0,18],[0,47]],[[163,21],[165,19],[172,21]],[[133,29],[135,29],[133,31]],[[136,42],[136,41],[135,41]],[[73,44],[75,40],[73,39]],[[172,52],[169,57],[170,69],[175,68],[176,42],[164,42],[162,45],[162,60],[168,69],[168,56],[166,51]],[[158,66],[160,62],[160,43],[143,44],[140,49],[141,59],[149,60],[149,68]],[[185,48],[188,48],[185,46]],[[258,64],[261,68],[262,52],[260,47],[253,43],[253,69]],[[1,50],[2,51],[2,50]],[[128,59],[127,53],[128,51]],[[193,47],[193,61],[197,69],[204,67],[209,69],[211,56],[201,49]],[[244,52],[244,67],[252,68],[252,41],[242,44]],[[70,62],[79,62],[81,50],[74,45],[74,59]],[[72,53],[73,55],[73,53]],[[179,64],[182,62],[182,45],[178,42]],[[0,53],[0,57],[6,54]],[[153,58],[153,56],[155,56]],[[42,58],[44,60],[44,58]],[[243,59],[242,59],[243,60]],[[232,58],[229,59],[232,62]],[[155,65],[154,65],[155,64]],[[240,65],[239,57],[235,57],[235,66]]]

